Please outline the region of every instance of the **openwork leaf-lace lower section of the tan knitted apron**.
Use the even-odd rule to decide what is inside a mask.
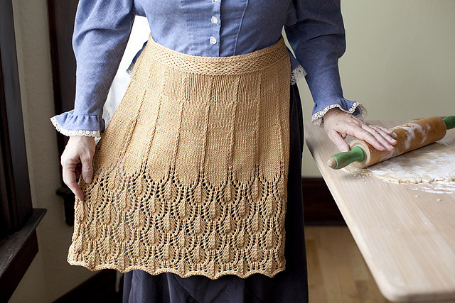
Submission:
[[[212,279],[284,270],[283,180],[257,170],[245,184],[229,171],[219,186],[203,174],[184,186],[172,168],[158,181],[146,170],[127,175],[119,161],[80,180],[87,202],[76,199],[70,264]]]

